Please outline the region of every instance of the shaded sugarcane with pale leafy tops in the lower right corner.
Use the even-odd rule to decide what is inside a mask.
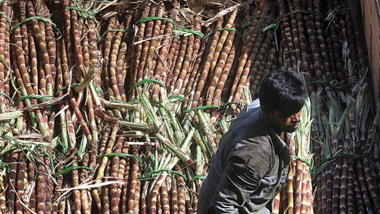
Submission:
[[[378,115],[373,115],[368,86],[357,85],[358,91],[346,96],[326,88],[328,99],[320,96],[316,101],[318,122],[313,125],[313,136],[318,213],[378,212]]]

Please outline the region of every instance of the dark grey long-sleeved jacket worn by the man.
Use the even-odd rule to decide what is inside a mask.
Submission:
[[[289,163],[289,148],[269,124],[257,99],[222,137],[199,192],[197,213],[206,214],[212,206],[216,213],[271,212]]]

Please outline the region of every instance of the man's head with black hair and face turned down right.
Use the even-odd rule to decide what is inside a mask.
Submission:
[[[276,70],[263,80],[261,109],[278,134],[296,131],[306,96],[306,83],[296,72]]]

